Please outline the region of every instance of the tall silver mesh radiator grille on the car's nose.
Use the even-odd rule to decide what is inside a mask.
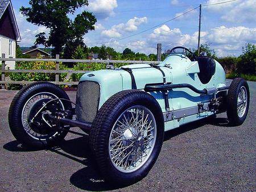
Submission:
[[[76,94],[76,118],[92,123],[98,111],[100,85],[93,81],[81,81]]]

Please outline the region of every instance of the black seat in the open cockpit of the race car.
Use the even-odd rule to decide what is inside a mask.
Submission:
[[[200,69],[199,79],[203,84],[208,84],[215,73],[215,61],[210,57],[196,57],[196,60]]]

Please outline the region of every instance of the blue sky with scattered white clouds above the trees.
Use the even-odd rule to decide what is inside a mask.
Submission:
[[[20,14],[19,8],[29,6],[28,0],[11,1],[22,37],[19,45],[30,47],[36,34],[47,34],[49,29],[27,22]],[[95,30],[84,36],[88,47],[105,44],[119,52],[128,47],[148,55],[156,54],[157,43],[162,43],[163,52],[180,45],[197,48],[199,8],[192,9],[225,1],[229,0],[89,0],[89,6],[77,9],[75,14],[87,10],[96,15]],[[210,44],[217,56],[239,56],[246,43],[256,44],[255,16],[256,0],[203,6],[201,43]]]

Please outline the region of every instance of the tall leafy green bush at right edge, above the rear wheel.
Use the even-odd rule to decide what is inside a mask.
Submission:
[[[256,75],[256,47],[247,43],[242,48],[243,54],[238,57],[237,73]]]

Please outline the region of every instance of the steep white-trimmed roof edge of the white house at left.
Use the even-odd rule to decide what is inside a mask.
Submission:
[[[18,24],[16,22],[16,18],[14,15],[13,5],[11,4],[10,0],[0,0],[0,19],[2,18],[4,12],[7,9],[9,10],[9,13],[11,16],[11,24],[13,24],[13,28],[14,28],[15,35],[16,35],[16,41],[20,41],[21,37],[20,37],[20,33],[19,33]]]

